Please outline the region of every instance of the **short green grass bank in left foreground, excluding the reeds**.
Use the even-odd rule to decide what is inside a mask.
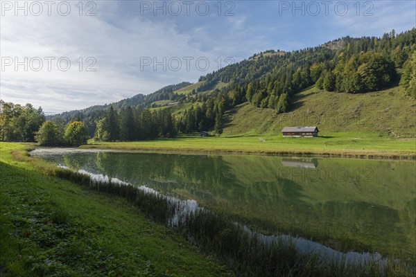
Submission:
[[[39,172],[27,146],[0,143],[0,276],[232,275],[122,197]]]

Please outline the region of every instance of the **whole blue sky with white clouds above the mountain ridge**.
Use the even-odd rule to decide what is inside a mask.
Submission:
[[[196,82],[267,49],[416,26],[416,1],[5,1],[0,93],[48,113]]]

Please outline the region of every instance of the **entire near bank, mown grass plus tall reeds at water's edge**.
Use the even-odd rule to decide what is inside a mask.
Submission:
[[[390,258],[384,266],[377,260],[321,260],[320,253],[303,254],[279,240],[268,243],[225,215],[203,209],[187,214],[170,231],[153,223],[166,224],[177,207],[162,195],[116,181],[94,183],[88,175],[47,168],[22,149],[8,154],[14,145],[1,146],[1,208],[7,211],[0,217],[1,236],[7,239],[1,240],[6,251],[0,265],[6,276],[231,275],[215,258],[198,254],[179,232],[204,253],[215,253],[238,276],[413,274],[408,265]],[[30,164],[84,186],[32,171]]]

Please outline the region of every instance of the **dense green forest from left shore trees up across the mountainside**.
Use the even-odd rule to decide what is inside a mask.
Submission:
[[[365,93],[400,84],[416,99],[416,28],[398,35],[392,30],[382,37],[343,37],[300,51],[265,51],[202,76],[197,84],[187,93],[178,93],[191,85],[182,82],[147,96],[65,112],[49,124],[61,130],[62,141],[65,126],[73,122],[82,122],[96,140],[135,141],[202,130],[221,134],[225,111],[236,105],[250,102],[284,113],[291,110],[295,94],[311,86]],[[160,100],[188,104],[187,109],[159,109],[155,102]],[[44,121],[41,108],[0,102],[3,141],[35,141]]]

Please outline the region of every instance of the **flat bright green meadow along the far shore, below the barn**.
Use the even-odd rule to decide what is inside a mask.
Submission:
[[[416,159],[416,139],[387,139],[367,133],[327,133],[318,138],[287,138],[280,135],[200,137],[180,136],[155,141],[90,143],[81,148],[150,152],[204,152]]]

